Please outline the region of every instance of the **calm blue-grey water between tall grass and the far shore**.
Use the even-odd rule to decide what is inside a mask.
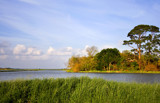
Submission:
[[[67,78],[81,76],[88,76],[90,78],[97,77],[118,82],[160,83],[160,74],[68,73],[65,71],[56,70],[0,72],[0,81],[34,78]]]

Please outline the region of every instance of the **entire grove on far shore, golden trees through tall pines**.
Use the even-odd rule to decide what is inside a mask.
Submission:
[[[131,50],[120,51],[116,48],[87,48],[88,56],[72,56],[68,68],[74,72],[91,70],[121,71],[159,71],[160,70],[160,34],[159,28],[152,25],[138,25],[124,40]]]

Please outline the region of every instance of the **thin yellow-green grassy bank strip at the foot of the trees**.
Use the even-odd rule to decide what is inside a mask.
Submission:
[[[66,70],[66,72],[74,73],[73,70]],[[99,71],[99,70],[91,70],[91,71],[77,71],[76,73],[155,73],[160,74],[160,71]]]

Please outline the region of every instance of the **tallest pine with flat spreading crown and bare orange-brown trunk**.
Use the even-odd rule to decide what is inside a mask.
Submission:
[[[137,51],[139,57],[139,68],[141,68],[141,52],[145,39],[148,32],[156,33],[159,32],[159,28],[153,25],[138,25],[134,27],[127,35],[130,40],[124,40],[123,45],[128,45],[133,50]],[[132,46],[131,46],[132,45]]]

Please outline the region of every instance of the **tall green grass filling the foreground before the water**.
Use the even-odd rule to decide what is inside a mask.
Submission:
[[[89,77],[3,81],[0,103],[160,103],[160,84]]]

